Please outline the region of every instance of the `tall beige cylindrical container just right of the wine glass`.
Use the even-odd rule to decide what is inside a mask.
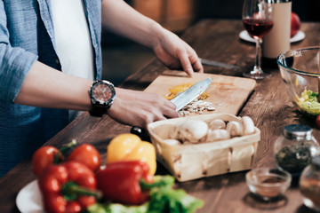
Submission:
[[[273,61],[290,50],[292,0],[268,0],[272,4],[274,26],[263,37],[263,61]]]

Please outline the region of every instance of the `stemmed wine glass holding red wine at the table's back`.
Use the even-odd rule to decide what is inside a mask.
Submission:
[[[244,76],[254,79],[267,78],[271,74],[261,69],[261,43],[262,37],[273,27],[272,4],[267,0],[244,0],[242,20],[244,28],[256,41],[255,66],[251,71],[245,72]]]

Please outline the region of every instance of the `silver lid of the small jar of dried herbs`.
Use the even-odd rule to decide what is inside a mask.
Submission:
[[[284,137],[294,140],[310,140],[312,128],[301,124],[291,124],[284,127]]]

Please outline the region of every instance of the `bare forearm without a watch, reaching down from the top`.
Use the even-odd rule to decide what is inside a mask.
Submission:
[[[153,48],[165,33],[156,21],[135,11],[123,0],[103,0],[102,27]]]

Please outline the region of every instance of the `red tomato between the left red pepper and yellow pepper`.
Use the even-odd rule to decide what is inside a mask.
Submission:
[[[90,144],[83,144],[81,146],[77,146],[71,154],[68,155],[67,161],[80,162],[92,171],[97,171],[100,169],[101,156],[94,146]]]

